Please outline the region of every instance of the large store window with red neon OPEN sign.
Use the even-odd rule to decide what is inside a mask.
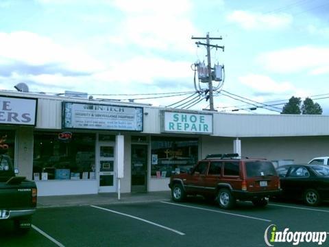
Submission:
[[[95,134],[34,134],[34,180],[95,179]],[[61,136],[68,138],[60,138]]]

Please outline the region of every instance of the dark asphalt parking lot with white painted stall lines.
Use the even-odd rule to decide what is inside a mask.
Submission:
[[[239,202],[223,211],[200,198],[38,209],[26,235],[1,223],[0,246],[267,246],[265,230],[329,231],[329,204]],[[329,238],[329,237],[328,237]],[[274,243],[274,246],[293,246]],[[300,246],[318,246],[304,243]],[[322,244],[329,246],[329,239]]]

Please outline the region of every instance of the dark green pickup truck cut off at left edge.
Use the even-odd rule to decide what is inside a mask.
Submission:
[[[15,176],[10,157],[0,154],[0,221],[14,220],[17,231],[29,231],[36,200],[36,183]]]

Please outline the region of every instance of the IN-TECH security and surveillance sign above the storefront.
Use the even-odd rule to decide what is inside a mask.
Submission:
[[[143,108],[63,102],[63,128],[143,131]]]

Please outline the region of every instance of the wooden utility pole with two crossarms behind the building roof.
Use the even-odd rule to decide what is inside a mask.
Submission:
[[[212,92],[212,73],[211,73],[211,58],[210,58],[210,47],[215,47],[223,49],[224,51],[224,47],[223,46],[218,46],[218,45],[210,45],[210,40],[221,40],[223,38],[219,37],[219,38],[210,38],[209,37],[209,33],[207,33],[206,38],[203,37],[193,37],[192,39],[197,39],[197,40],[206,40],[207,43],[201,43],[200,41],[196,42],[195,44],[197,45],[205,45],[207,47],[207,57],[208,57],[208,75],[209,75],[209,80],[208,80],[208,88],[209,88],[209,106],[210,106],[210,110],[215,111],[214,108],[214,97],[213,97],[213,92]]]

